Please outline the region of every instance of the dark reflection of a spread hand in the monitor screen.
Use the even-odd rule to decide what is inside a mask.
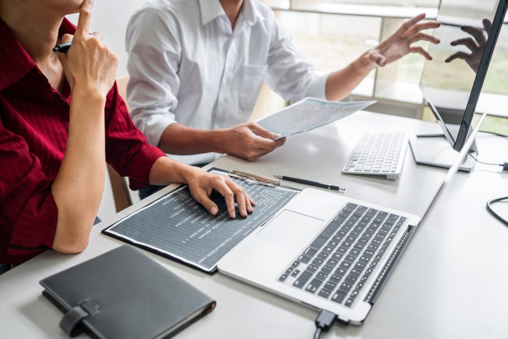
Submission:
[[[485,28],[485,32],[487,32],[487,36],[490,33],[490,29],[492,28],[492,22],[489,19],[482,20],[483,27]],[[485,49],[485,45],[487,44],[487,38],[483,33],[482,29],[474,28],[472,26],[462,26],[460,27],[464,32],[469,34],[474,40],[469,38],[462,38],[452,41],[450,44],[452,46],[464,45],[471,53],[466,52],[456,52],[450,55],[445,63],[451,63],[455,59],[463,59],[466,61],[467,65],[474,71],[474,73],[478,72],[478,67],[480,66],[480,61],[482,60],[483,51]]]

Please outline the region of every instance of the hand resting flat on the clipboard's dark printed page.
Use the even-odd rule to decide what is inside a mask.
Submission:
[[[187,184],[193,198],[212,215],[218,213],[217,204],[210,199],[213,190],[226,199],[230,218],[236,218],[235,199],[243,218],[247,217],[247,213],[252,213],[252,206],[256,205],[245,189],[234,183],[227,175],[196,170],[187,178]]]

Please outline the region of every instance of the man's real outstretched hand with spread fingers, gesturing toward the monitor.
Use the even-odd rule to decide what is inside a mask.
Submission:
[[[430,41],[434,44],[439,43],[438,39],[422,33],[421,31],[429,28],[437,28],[441,24],[436,21],[418,23],[424,18],[425,14],[422,13],[404,22],[394,34],[367,53],[369,61],[374,66],[384,67],[408,53],[419,53],[427,60],[432,60],[430,54],[422,47],[411,47],[411,44],[421,40]]]

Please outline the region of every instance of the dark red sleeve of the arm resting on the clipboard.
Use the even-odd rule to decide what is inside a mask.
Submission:
[[[106,161],[121,175],[128,176],[133,190],[149,184],[150,169],[165,157],[159,148],[149,145],[134,126],[116,83],[106,101]]]

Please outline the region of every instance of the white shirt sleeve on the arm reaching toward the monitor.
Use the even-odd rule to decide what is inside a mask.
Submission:
[[[265,76],[267,84],[290,102],[305,97],[326,99],[326,81],[330,73],[314,70],[305,56],[295,49],[290,34],[281,27],[273,12],[266,20],[271,34]]]

